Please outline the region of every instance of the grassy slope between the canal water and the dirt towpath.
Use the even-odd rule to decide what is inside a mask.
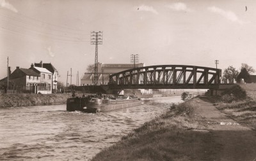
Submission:
[[[173,104],[166,114],[145,123],[93,160],[214,160],[212,135],[194,112],[196,100]],[[207,150],[207,153],[205,151]]]

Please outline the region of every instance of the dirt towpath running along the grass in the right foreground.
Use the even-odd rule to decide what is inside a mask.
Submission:
[[[239,125],[216,109],[207,98],[198,99],[196,112],[205,118],[215,147],[205,150],[217,160],[256,161],[256,131]],[[218,145],[218,146],[216,146]]]

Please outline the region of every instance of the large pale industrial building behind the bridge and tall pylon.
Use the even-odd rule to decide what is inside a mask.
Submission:
[[[143,63],[135,64],[135,67],[143,67]],[[108,85],[109,75],[134,68],[134,64],[98,64],[98,85]],[[84,73],[81,76],[81,85],[93,85],[93,73]]]

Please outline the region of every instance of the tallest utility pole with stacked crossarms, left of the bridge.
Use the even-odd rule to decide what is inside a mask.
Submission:
[[[95,45],[94,85],[98,83],[98,45],[102,45],[102,31],[91,32],[91,45]]]

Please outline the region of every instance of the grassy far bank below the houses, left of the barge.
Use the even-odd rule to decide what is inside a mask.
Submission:
[[[2,94],[0,108],[61,104],[71,94]]]

